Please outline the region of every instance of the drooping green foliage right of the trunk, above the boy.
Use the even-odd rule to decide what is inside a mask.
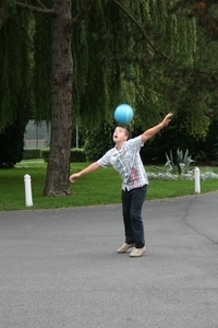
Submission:
[[[100,125],[125,101],[135,108],[133,127],[145,129],[173,108],[178,130],[205,138],[217,102],[209,54],[218,44],[208,44],[193,2],[122,1],[120,10],[112,2],[98,1],[73,36],[76,115]]]

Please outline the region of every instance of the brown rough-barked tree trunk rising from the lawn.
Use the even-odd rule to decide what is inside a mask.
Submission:
[[[70,195],[72,130],[71,0],[53,0],[51,23],[51,139],[44,196]]]

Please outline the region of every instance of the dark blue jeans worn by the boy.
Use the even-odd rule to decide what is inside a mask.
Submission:
[[[125,231],[125,243],[135,244],[136,248],[145,246],[142,208],[147,192],[147,185],[122,190],[122,213]]]

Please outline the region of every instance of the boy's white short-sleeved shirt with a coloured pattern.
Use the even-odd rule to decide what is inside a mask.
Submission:
[[[112,166],[122,178],[122,189],[132,190],[148,185],[140,150],[144,145],[141,136],[125,141],[121,150],[112,148],[97,162],[100,166]]]

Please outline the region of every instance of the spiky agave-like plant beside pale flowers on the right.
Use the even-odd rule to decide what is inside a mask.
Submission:
[[[165,164],[166,166],[169,166],[169,171],[172,173],[178,172],[179,175],[182,173],[186,173],[190,164],[193,163],[194,161],[191,159],[189,155],[189,150],[186,149],[185,153],[183,154],[183,151],[178,149],[177,150],[177,157],[173,160],[172,156],[172,151],[170,150],[170,155],[166,153],[167,157],[167,163]]]

